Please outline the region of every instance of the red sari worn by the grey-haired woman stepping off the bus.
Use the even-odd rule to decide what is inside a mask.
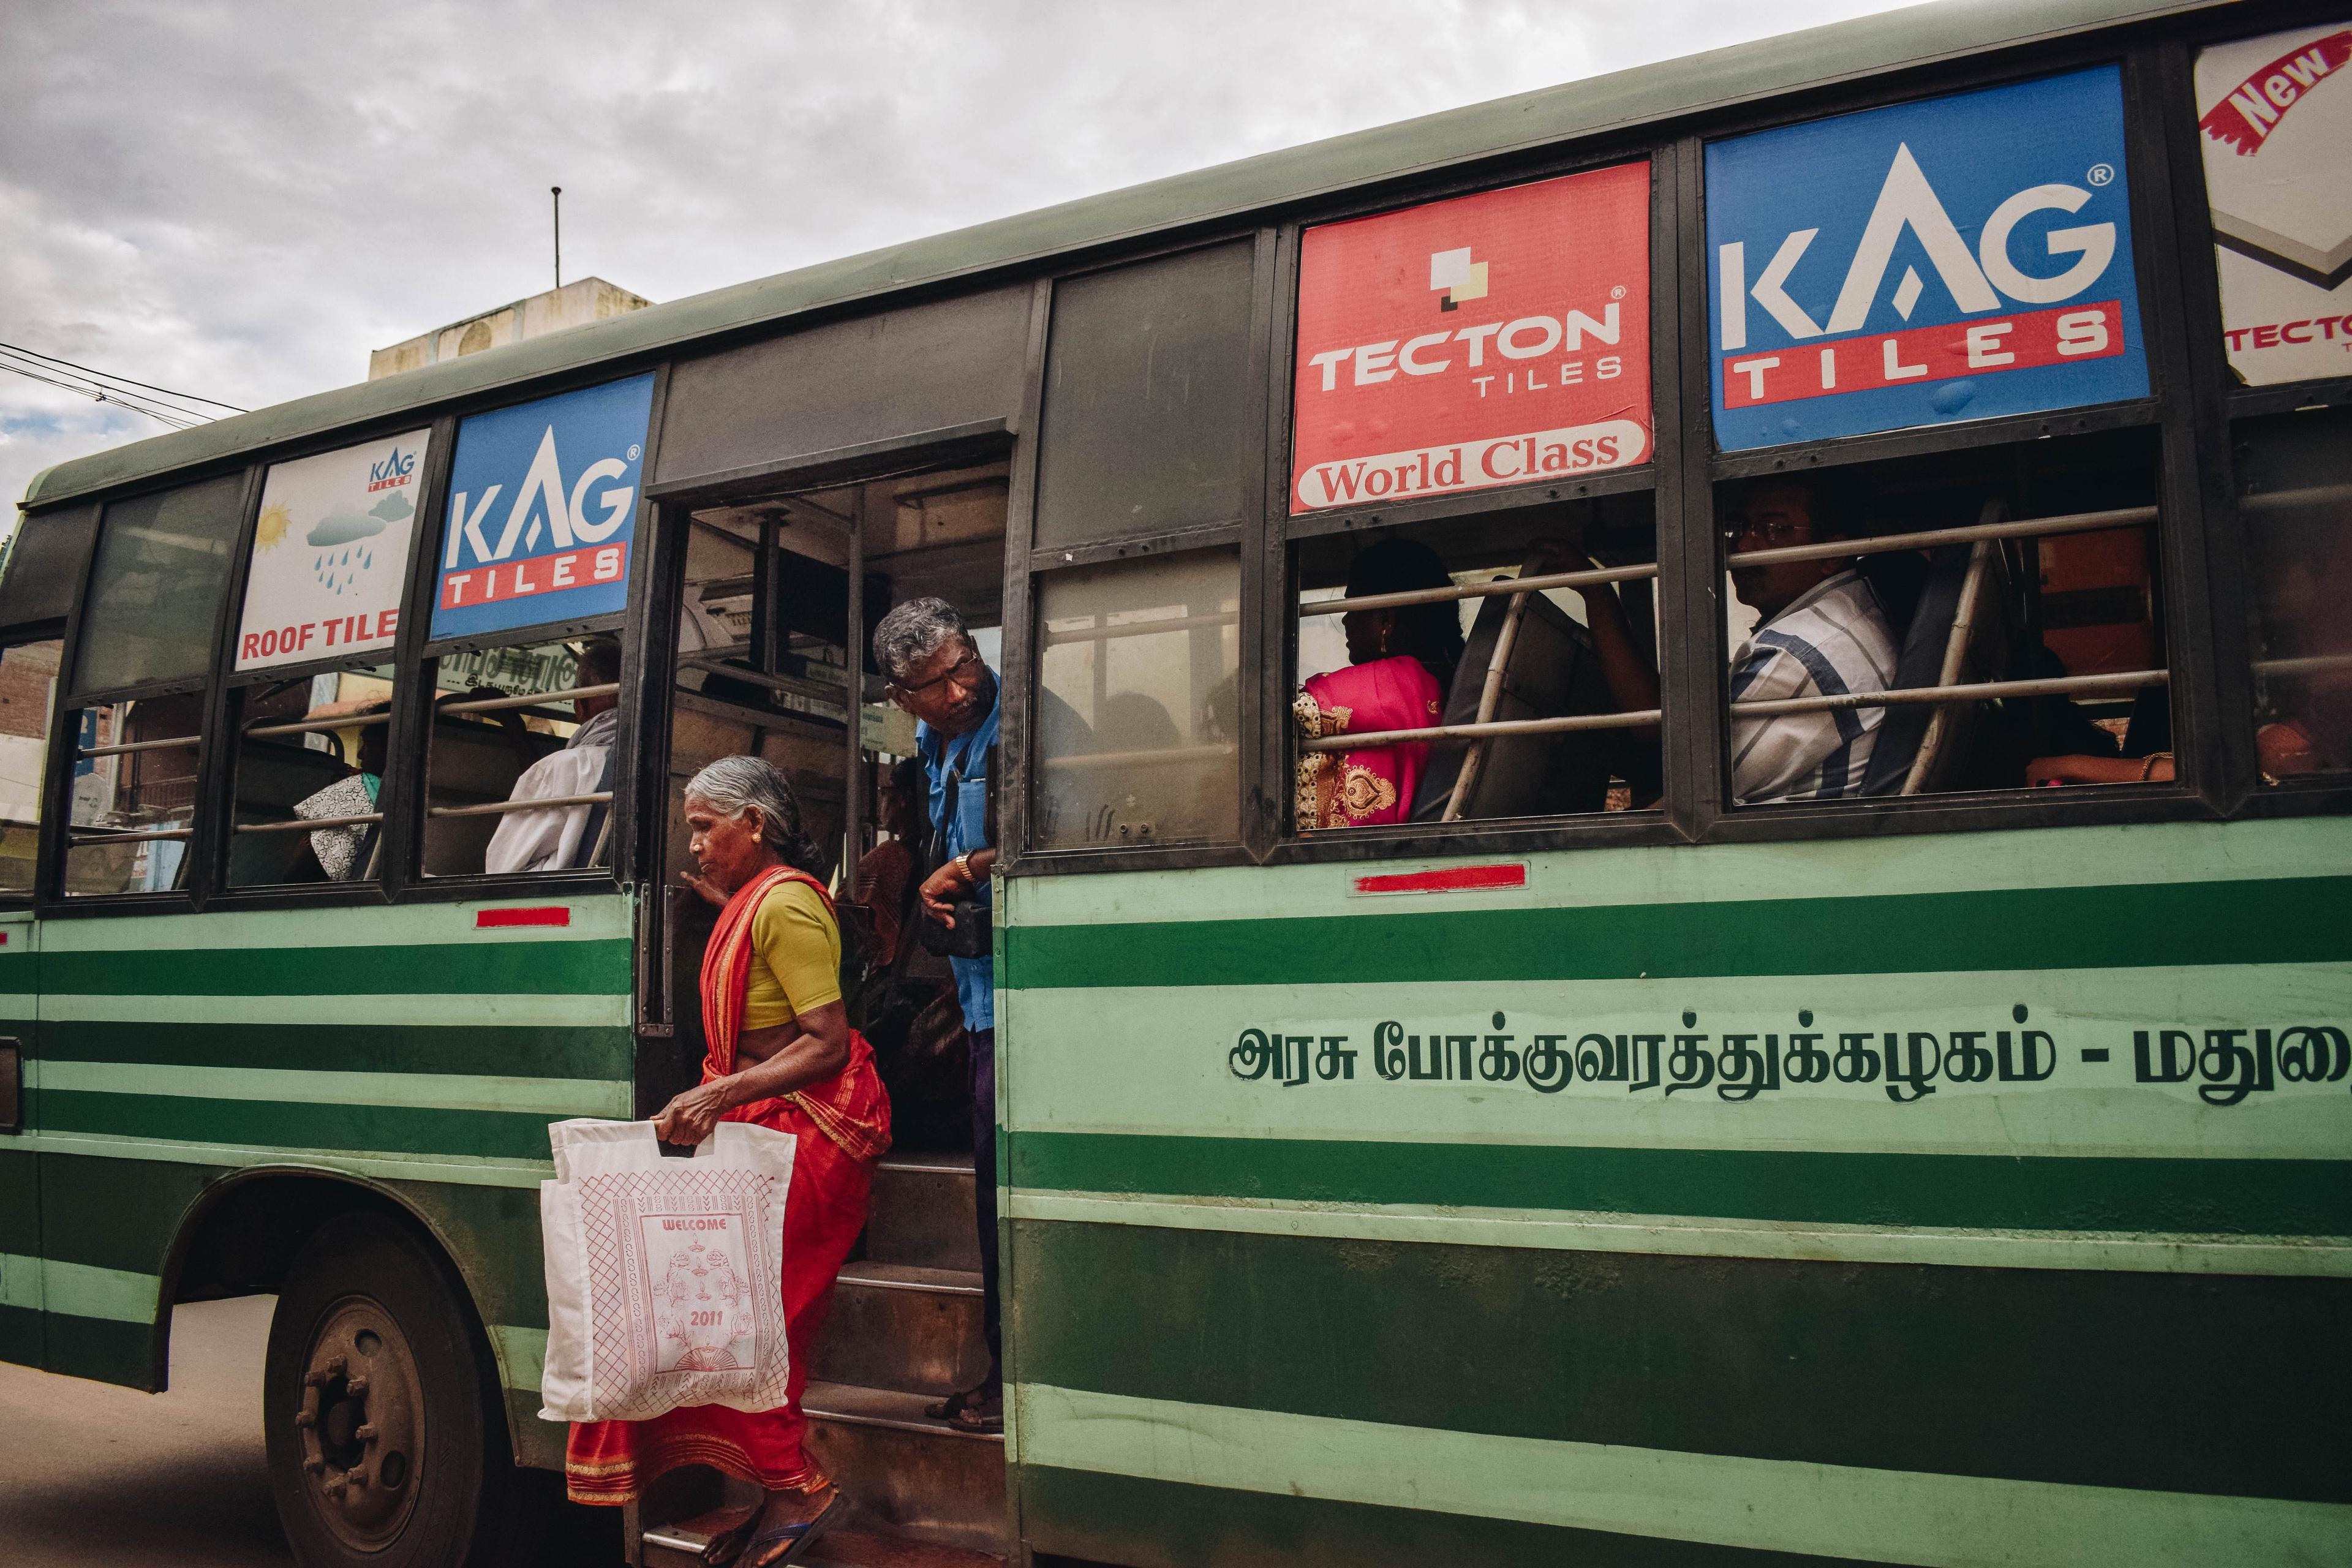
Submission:
[[[786,882],[807,882],[823,896],[807,872],[781,865],[762,872],[727,900],[703,950],[706,1084],[734,1072],[753,964],[750,919]],[[830,898],[826,907],[833,907]],[[835,1077],[776,1100],[739,1105],[722,1121],[755,1121],[800,1140],[783,1199],[783,1340],[793,1363],[786,1403],[757,1413],[684,1406],[642,1422],[574,1422],[564,1453],[572,1502],[635,1502],[656,1476],[680,1465],[708,1465],[767,1490],[814,1493],[828,1483],[800,1443],[807,1429],[800,1392],[833,1307],[833,1279],[866,1229],[873,1161],[889,1150],[889,1095],[882,1093],[873,1048],[851,1032],[849,1065]]]

